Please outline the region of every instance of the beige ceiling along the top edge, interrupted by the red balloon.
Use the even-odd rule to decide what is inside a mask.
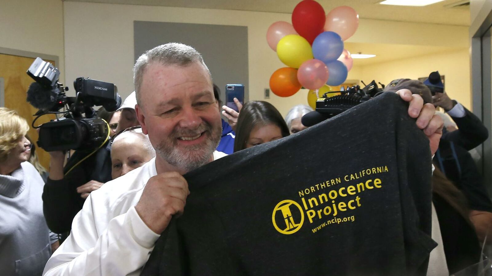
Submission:
[[[168,7],[209,8],[226,10],[292,13],[299,0],[65,0],[114,4],[152,5]],[[382,0],[317,0],[328,13],[347,5],[360,18],[403,22],[435,23],[470,26],[469,5],[452,7],[467,0],[445,0],[424,7],[390,6],[378,4]]]

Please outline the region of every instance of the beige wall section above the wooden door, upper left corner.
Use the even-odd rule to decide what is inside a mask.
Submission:
[[[0,47],[58,56],[63,80],[62,0],[1,1]]]

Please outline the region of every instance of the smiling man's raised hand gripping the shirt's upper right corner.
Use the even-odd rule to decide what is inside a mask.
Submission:
[[[431,146],[431,154],[437,151],[439,139],[442,136],[442,128],[444,122],[441,117],[435,115],[435,108],[432,104],[425,104],[422,97],[418,94],[412,94],[408,89],[400,89],[397,91],[401,99],[409,102],[408,115],[412,118],[417,118],[417,127],[424,131],[424,134],[429,138]]]

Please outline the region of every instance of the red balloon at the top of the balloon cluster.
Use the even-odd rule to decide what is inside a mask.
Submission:
[[[325,20],[325,10],[314,0],[301,1],[292,12],[292,26],[309,44],[323,32]]]

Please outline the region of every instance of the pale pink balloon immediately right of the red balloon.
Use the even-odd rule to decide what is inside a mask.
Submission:
[[[349,6],[339,6],[326,15],[325,31],[334,31],[343,41],[351,37],[359,27],[359,15]]]

